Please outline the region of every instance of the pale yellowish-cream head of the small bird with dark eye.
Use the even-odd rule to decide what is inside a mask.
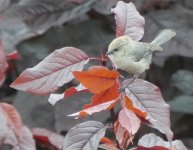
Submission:
[[[120,36],[114,39],[108,47],[107,55],[108,56],[119,56],[123,53],[123,51],[128,48],[128,44],[130,43],[131,38],[128,36]]]

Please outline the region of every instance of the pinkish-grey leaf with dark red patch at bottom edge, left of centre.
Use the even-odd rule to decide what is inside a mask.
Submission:
[[[42,145],[51,144],[57,149],[62,149],[62,143],[64,137],[60,134],[54,133],[47,129],[43,128],[32,128],[31,132],[33,134],[34,139]]]

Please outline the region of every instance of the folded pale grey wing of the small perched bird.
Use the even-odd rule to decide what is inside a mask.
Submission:
[[[136,42],[134,41],[134,48],[132,51],[134,61],[140,61],[145,55],[151,54],[153,51],[162,51],[162,47],[144,43],[144,42]]]

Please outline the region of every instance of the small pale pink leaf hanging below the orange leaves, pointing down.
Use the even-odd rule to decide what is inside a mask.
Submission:
[[[131,135],[137,133],[141,125],[140,119],[127,108],[119,112],[118,121],[121,127],[125,128]]]

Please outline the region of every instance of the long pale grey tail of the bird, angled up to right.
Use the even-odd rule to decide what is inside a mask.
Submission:
[[[176,32],[174,32],[170,29],[165,29],[165,30],[161,31],[160,34],[158,34],[158,36],[151,42],[151,44],[161,46],[162,44],[169,41],[175,35],[176,35]]]

